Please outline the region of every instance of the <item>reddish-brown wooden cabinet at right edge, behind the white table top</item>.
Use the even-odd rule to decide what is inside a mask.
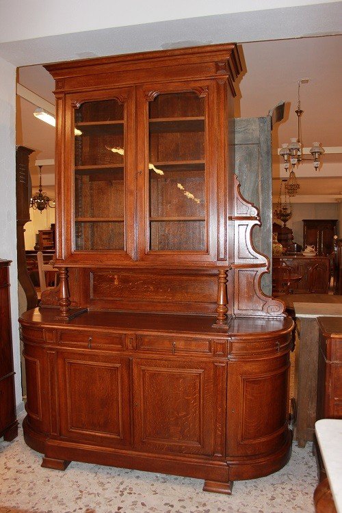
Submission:
[[[317,317],[317,420],[342,419],[342,319]]]

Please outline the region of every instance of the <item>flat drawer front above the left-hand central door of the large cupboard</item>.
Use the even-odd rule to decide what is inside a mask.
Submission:
[[[64,347],[116,351],[124,349],[125,335],[122,333],[75,332],[66,330],[57,332],[57,343],[62,344]]]

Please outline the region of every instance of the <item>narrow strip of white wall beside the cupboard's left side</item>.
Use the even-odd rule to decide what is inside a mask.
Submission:
[[[16,68],[0,57],[0,257],[10,266],[16,404],[22,400],[16,268]]]

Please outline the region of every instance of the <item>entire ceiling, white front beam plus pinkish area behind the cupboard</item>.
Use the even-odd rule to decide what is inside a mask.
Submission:
[[[18,69],[18,81],[51,103],[54,84],[44,62],[237,41],[244,73],[235,116],[266,116],[280,100],[286,102],[285,118],[272,132],[275,196],[282,176],[277,148],[297,135],[298,80],[309,79],[301,86],[302,140],[306,147],[318,140],[330,151],[319,172],[311,163],[300,164],[301,198],[341,196],[341,1],[150,0],[146,10],[140,1],[127,0],[116,10],[111,0],[97,0],[80,10],[78,0],[0,0],[0,8],[0,58],[32,65]],[[55,129],[34,118],[35,107],[18,98],[17,144],[36,150],[32,164],[53,159],[55,139]],[[38,169],[31,167],[37,183]],[[53,166],[44,166],[43,184],[53,183],[53,176]]]

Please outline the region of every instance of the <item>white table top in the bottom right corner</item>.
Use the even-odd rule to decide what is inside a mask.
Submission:
[[[342,419],[321,419],[315,432],[337,513],[342,513]]]

